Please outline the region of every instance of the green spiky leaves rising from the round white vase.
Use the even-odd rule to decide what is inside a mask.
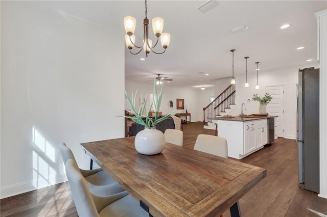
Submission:
[[[157,94],[157,88],[156,88],[156,84],[155,84],[155,79],[153,81],[153,102],[150,104],[150,108],[149,108],[149,112],[148,114],[145,116],[143,115],[144,111],[145,111],[145,107],[148,101],[148,97],[149,94],[147,95],[147,97],[145,98],[145,102],[142,106],[139,107],[138,112],[136,112],[135,110],[135,102],[136,102],[136,95],[137,95],[137,91],[135,92],[135,95],[132,93],[132,96],[129,97],[128,93],[125,90],[125,96],[127,97],[128,103],[131,107],[131,110],[126,110],[127,112],[131,112],[134,116],[119,116],[119,117],[124,117],[124,118],[128,118],[133,120],[135,123],[141,124],[144,127],[154,127],[157,123],[160,123],[161,121],[166,120],[167,118],[171,117],[174,112],[171,112],[170,114],[158,118],[158,113],[159,113],[159,109],[160,109],[160,105],[161,105],[161,97],[162,97],[162,88],[164,87],[164,85],[161,86],[161,90],[160,90],[160,94]],[[143,98],[142,94],[141,94],[141,99]],[[150,117],[151,111],[152,111],[152,107],[154,106],[155,108],[155,116],[154,119],[152,119]],[[146,118],[145,120],[143,118]]]

